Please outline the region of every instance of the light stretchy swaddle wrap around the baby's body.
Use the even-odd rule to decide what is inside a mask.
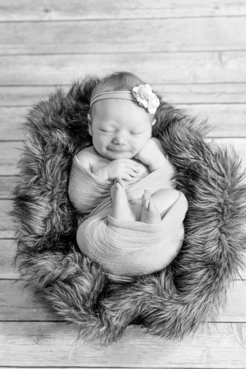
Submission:
[[[141,202],[145,189],[151,196],[172,189],[173,167],[166,161],[161,168],[139,181],[124,181],[131,205]],[[111,181],[105,181],[85,169],[74,156],[68,194],[73,206],[84,215],[77,231],[81,252],[103,266],[112,279],[130,280],[131,276],[163,269],[178,254],[183,238],[183,219],[187,200],[183,193],[160,223],[147,224],[112,218]]]

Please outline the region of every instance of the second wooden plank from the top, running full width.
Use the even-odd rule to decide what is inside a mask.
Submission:
[[[193,18],[192,22],[189,18],[9,22],[0,23],[0,34],[2,55],[232,51],[245,49],[246,20],[206,17]]]

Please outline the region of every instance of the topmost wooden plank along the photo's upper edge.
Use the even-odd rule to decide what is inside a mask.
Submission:
[[[117,18],[173,18],[245,15],[243,1],[223,0],[142,0],[141,6],[131,0],[8,0],[0,7],[0,21],[78,20]]]

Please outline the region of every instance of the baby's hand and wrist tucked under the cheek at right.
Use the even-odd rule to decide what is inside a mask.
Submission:
[[[134,158],[148,165],[150,172],[161,168],[166,162],[161,142],[155,137],[149,138]]]

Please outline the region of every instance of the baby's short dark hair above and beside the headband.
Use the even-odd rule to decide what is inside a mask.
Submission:
[[[92,91],[91,98],[98,93],[108,91],[131,91],[133,87],[145,85],[141,79],[130,72],[115,72],[101,79]],[[95,113],[95,104],[89,110],[90,114]]]

